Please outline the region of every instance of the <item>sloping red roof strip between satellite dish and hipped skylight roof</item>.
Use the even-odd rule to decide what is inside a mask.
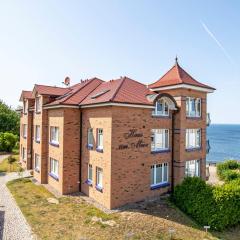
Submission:
[[[90,94],[96,87],[98,87],[103,80],[99,78],[92,78],[85,81],[81,81],[69,88],[69,92],[58,97],[54,102],[47,104],[47,106],[54,105],[79,105],[88,94]]]

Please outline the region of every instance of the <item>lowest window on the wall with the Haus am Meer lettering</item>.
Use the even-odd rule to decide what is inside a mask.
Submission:
[[[151,186],[168,183],[168,163],[151,166]]]

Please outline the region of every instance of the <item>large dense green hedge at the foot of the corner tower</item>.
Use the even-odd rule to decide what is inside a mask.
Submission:
[[[175,187],[172,199],[199,224],[212,229],[221,231],[240,223],[240,180],[214,187],[188,177]]]

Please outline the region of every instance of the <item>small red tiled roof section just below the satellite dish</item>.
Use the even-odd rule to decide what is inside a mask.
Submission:
[[[69,91],[70,91],[69,88],[35,84],[32,92],[33,92],[33,95],[38,93],[40,95],[61,96],[63,94],[66,94]]]

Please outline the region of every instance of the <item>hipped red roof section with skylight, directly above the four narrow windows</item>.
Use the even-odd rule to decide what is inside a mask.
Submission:
[[[91,105],[98,103],[128,103],[152,105],[147,95],[152,94],[146,85],[122,77],[109,82],[101,83],[91,94],[89,94],[80,105]]]

